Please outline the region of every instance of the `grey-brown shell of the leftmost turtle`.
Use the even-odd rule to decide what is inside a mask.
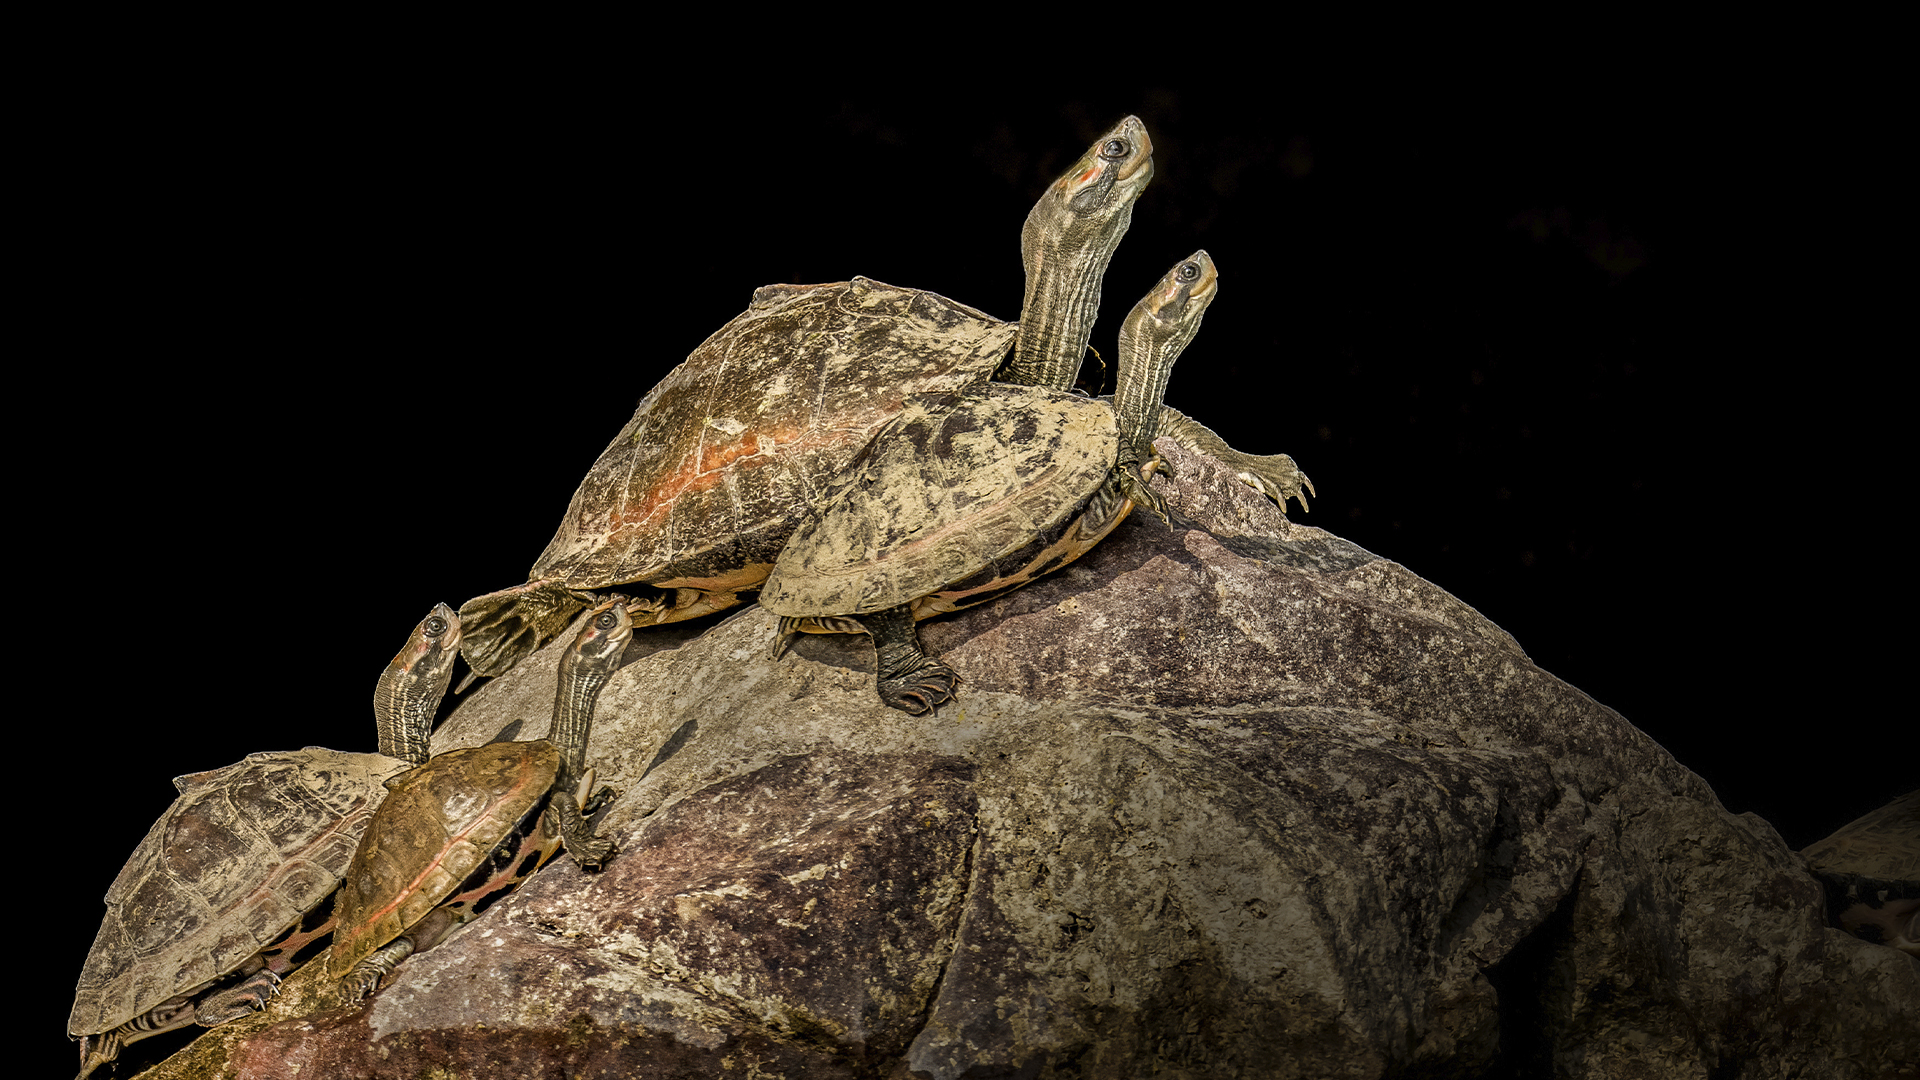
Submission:
[[[405,769],[309,746],[179,776],[180,798],[108,890],[67,1032],[109,1032],[280,938],[340,884]]]

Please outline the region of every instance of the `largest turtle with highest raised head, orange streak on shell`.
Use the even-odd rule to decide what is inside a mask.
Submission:
[[[733,607],[833,477],[910,402],[989,379],[1068,390],[1106,265],[1152,173],[1152,140],[1129,115],[1048,184],[1021,229],[1018,325],[864,277],[758,288],[639,402],[528,580],[461,605],[467,663],[505,673],[601,588],[636,596],[637,626]],[[1173,409],[1162,423],[1283,507],[1290,496],[1306,505],[1311,482],[1292,457],[1238,454]]]

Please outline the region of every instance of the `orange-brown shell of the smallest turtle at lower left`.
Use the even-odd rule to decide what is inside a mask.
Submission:
[[[396,778],[340,888],[332,976],[346,976],[453,896],[541,805],[559,769],[561,751],[547,740],[493,742],[442,753]]]

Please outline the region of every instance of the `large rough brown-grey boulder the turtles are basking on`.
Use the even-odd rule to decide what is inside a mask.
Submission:
[[[1766,822],[1162,454],[1175,528],[922,626],[966,680],[933,719],[877,703],[864,638],[768,661],[758,609],[637,644],[601,874],[553,863],[365,1007],[309,965],[159,1074],[1920,1074],[1920,961],[1828,928]],[[553,680],[549,650],[436,749],[541,734]]]

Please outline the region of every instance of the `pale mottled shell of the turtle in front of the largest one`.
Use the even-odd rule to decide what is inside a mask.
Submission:
[[[760,605],[866,615],[947,592],[941,609],[952,609],[1058,569],[1091,540],[1035,555],[1100,490],[1117,450],[1114,411],[1058,390],[993,384],[956,407],[902,413],[795,530]]]

